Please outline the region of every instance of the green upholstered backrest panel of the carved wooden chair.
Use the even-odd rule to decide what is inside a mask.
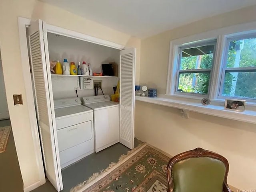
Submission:
[[[210,157],[189,158],[172,167],[174,192],[223,192],[226,167]]]

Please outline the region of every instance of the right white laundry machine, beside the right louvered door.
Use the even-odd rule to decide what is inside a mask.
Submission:
[[[119,142],[119,103],[110,101],[109,95],[83,97],[84,106],[94,114],[95,152]]]

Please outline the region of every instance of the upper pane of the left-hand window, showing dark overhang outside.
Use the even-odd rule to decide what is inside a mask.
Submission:
[[[211,69],[214,45],[182,49],[180,70]]]

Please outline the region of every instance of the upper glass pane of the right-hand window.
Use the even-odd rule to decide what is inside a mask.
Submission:
[[[256,38],[230,41],[227,67],[256,67]]]

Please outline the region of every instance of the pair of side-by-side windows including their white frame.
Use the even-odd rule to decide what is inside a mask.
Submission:
[[[256,27],[242,31],[245,26],[171,41],[166,94],[256,103]]]

